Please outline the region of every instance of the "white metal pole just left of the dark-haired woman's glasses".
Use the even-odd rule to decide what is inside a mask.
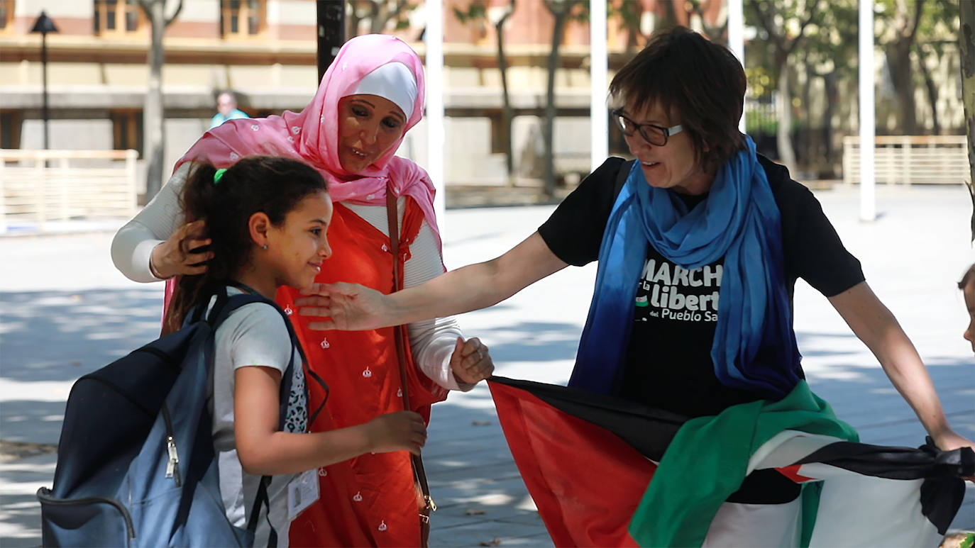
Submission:
[[[590,171],[605,162],[609,156],[609,128],[606,117],[606,89],[608,67],[606,62],[606,0],[589,2],[589,82],[590,104]]]

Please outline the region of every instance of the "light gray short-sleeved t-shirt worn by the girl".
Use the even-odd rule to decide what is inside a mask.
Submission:
[[[227,287],[227,295],[242,293]],[[213,302],[211,302],[213,306]],[[216,330],[214,379],[210,411],[214,418],[214,450],[220,473],[220,495],[227,519],[236,527],[246,528],[248,514],[260,476],[248,474],[241,467],[234,440],[234,372],[239,367],[273,367],[282,372],[288,368],[293,352],[292,393],[289,398],[285,431],[306,432],[308,423],[307,391],[301,356],[288,335],[281,313],[264,303],[245,305],[230,313]],[[288,545],[288,483],[293,475],[274,476],[267,495],[270,500],[270,522],[278,533],[278,546]],[[261,507],[257,522],[255,546],[265,546],[270,532],[265,510]]]

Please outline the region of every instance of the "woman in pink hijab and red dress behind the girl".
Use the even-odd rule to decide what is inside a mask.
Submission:
[[[137,281],[203,272],[219,249],[205,247],[210,240],[200,222],[182,224],[179,194],[190,165],[206,159],[227,167],[261,154],[302,160],[329,183],[332,255],[316,282],[354,281],[388,293],[394,290],[394,268],[407,287],[442,274],[433,184],[421,167],[395,156],[406,131],[422,117],[423,91],[422,64],[407,44],[383,35],[349,40],[301,112],[231,120],[204,134],[176,164],[169,183],[116,234],[116,267]],[[395,197],[399,224],[396,257],[388,193]],[[448,389],[470,389],[493,370],[487,347],[476,338],[465,342],[452,318],[438,318],[407,326],[404,383],[393,328],[312,331],[308,319],[292,313],[296,296],[296,289],[283,289],[277,301],[292,314],[311,371],[328,386],[308,383],[309,410],[325,404],[313,431],[403,410],[404,389],[409,408],[429,420],[430,405],[447,397]],[[292,522],[292,544],[420,545],[408,453],[367,454],[322,468],[318,476],[319,498]],[[245,523],[240,518],[237,525]]]

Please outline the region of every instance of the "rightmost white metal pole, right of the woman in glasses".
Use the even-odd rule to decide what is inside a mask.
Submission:
[[[860,220],[877,218],[874,177],[874,0],[860,0]]]

